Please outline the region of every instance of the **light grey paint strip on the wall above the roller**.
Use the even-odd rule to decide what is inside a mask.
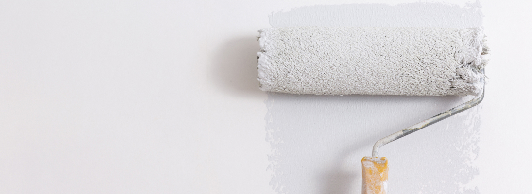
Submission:
[[[270,25],[471,28],[482,26],[480,7],[479,3],[464,7],[440,3],[316,5],[273,13]]]

